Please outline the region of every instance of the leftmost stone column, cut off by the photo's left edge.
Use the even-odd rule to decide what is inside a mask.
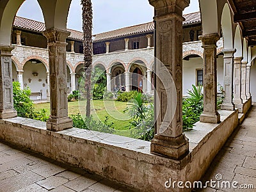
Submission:
[[[13,46],[0,46],[0,119],[13,118],[12,53]]]

